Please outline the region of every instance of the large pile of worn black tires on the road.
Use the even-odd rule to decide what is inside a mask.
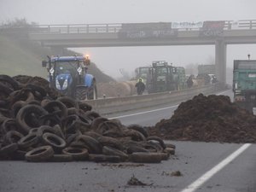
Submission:
[[[103,118],[44,80],[0,75],[0,160],[159,163],[174,153],[144,127]]]

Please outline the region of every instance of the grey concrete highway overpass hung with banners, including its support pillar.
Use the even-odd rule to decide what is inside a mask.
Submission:
[[[60,55],[74,47],[215,45],[216,76],[225,82],[227,44],[256,44],[256,20],[38,25],[29,38]]]

